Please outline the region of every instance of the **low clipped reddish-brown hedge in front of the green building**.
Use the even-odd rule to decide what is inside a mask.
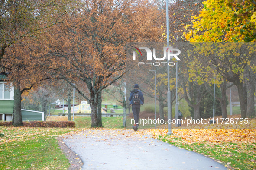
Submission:
[[[26,121],[25,127],[75,127],[73,121]],[[12,126],[12,122],[0,121],[0,126]]]

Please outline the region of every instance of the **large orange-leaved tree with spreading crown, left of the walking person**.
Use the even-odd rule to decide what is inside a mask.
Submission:
[[[101,127],[101,91],[125,74],[126,42],[159,39],[161,11],[144,0],[83,2],[48,35],[49,70],[89,101],[91,127]],[[90,94],[74,85],[76,81]]]

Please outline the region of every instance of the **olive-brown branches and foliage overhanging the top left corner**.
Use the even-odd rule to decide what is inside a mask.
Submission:
[[[0,62],[6,48],[35,37],[59,22],[71,0],[2,0],[0,2]],[[43,22],[42,22],[43,21]]]

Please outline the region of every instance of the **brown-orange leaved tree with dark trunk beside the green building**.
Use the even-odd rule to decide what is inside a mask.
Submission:
[[[21,117],[23,92],[51,76],[44,72],[45,69],[38,67],[38,63],[44,60],[41,55],[45,52],[39,46],[38,42],[32,43],[32,41],[30,44],[25,44],[25,41],[13,44],[11,48],[6,49],[1,61],[2,72],[7,75],[6,82],[11,82],[14,86],[13,126],[23,126]]]

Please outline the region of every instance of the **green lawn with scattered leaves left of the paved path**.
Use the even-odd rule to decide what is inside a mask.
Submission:
[[[0,127],[0,169],[67,169],[55,139],[74,128]]]

